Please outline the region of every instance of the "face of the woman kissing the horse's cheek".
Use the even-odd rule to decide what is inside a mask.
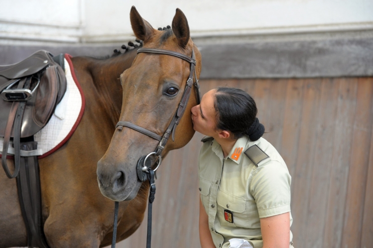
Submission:
[[[216,120],[214,94],[216,89],[208,91],[201,99],[201,103],[192,107],[193,129],[201,134],[215,137]]]

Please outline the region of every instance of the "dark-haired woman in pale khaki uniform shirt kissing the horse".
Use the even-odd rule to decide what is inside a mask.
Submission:
[[[291,176],[261,138],[255,101],[219,87],[191,111],[194,130],[206,135],[198,169],[201,247],[292,248]]]

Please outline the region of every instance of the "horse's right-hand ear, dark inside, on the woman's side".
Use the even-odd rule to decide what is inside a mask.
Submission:
[[[185,48],[190,37],[189,25],[183,11],[179,8],[176,9],[176,14],[172,20],[172,31],[177,38],[179,46]]]

